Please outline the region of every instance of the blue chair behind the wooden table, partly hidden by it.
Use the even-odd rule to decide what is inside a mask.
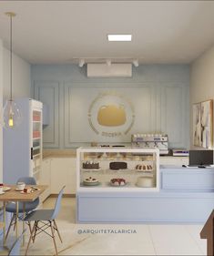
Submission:
[[[22,177],[22,178],[18,179],[17,182],[25,182],[26,185],[33,185],[33,186],[36,185],[36,179],[34,177]],[[20,202],[18,204],[18,212],[19,213],[24,213],[24,210],[25,210],[25,213],[27,214],[30,211],[35,210],[36,207],[38,206],[38,204],[39,204],[39,198],[37,198],[34,201],[29,201],[29,202],[25,202],[25,203]],[[6,232],[6,236],[5,236],[5,241],[6,241],[11,227],[14,225],[14,230],[15,230],[15,225],[17,224],[16,223],[17,218],[16,218],[15,202],[9,202],[6,205],[5,210],[7,212],[13,213],[12,219],[11,219],[9,227],[8,227],[8,230]],[[31,231],[31,226],[29,226],[29,229]]]

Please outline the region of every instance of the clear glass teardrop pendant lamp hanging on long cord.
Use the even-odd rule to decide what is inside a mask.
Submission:
[[[5,15],[10,18],[10,97],[5,101],[3,108],[3,123],[4,128],[15,128],[19,125],[21,120],[21,113],[13,99],[13,80],[12,80],[12,19],[15,13],[7,12]]]

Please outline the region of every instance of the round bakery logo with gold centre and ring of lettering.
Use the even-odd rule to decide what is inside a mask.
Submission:
[[[111,138],[127,135],[135,120],[132,103],[113,91],[98,94],[89,106],[87,117],[97,135]]]

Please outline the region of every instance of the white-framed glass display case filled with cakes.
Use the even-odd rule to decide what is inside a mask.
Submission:
[[[78,148],[77,191],[158,191],[158,148]]]

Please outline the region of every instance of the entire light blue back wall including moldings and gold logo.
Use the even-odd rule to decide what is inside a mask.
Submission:
[[[45,148],[130,143],[132,133],[168,133],[189,147],[189,66],[145,65],[131,78],[87,78],[74,65],[32,66],[33,97],[49,108]],[[107,112],[117,111],[117,123]]]

